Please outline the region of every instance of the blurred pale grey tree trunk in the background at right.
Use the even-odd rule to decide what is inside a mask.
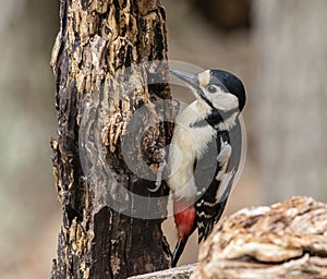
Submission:
[[[327,201],[327,1],[254,1],[254,113],[265,198]]]

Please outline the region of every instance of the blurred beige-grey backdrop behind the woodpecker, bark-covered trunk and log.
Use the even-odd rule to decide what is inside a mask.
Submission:
[[[292,195],[327,202],[327,1],[162,3],[169,59],[234,72],[246,87],[247,157],[226,214]],[[1,8],[0,274],[47,278],[61,225],[49,145],[59,1]],[[174,231],[167,233],[173,245]],[[195,243],[181,263],[196,260]]]

